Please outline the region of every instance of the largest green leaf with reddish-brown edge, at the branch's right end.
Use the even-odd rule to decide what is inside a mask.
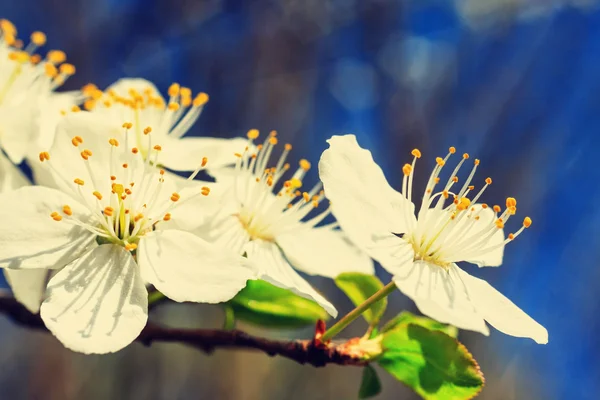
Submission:
[[[456,339],[418,324],[384,333],[378,363],[427,400],[472,399],[483,388],[479,365]]]

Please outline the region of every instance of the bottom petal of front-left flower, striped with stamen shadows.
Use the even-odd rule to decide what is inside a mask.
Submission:
[[[148,293],[131,254],[105,244],[48,283],[41,316],[66,347],[112,353],[135,340],[148,318]]]

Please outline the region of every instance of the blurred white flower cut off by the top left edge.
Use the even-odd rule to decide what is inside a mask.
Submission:
[[[44,59],[34,53],[46,35],[32,33],[24,49],[16,35],[12,23],[0,20],[0,145],[19,164],[32,150],[52,143],[60,109],[74,105],[80,94],[54,93],[75,67],[64,63],[62,51],[51,50]]]

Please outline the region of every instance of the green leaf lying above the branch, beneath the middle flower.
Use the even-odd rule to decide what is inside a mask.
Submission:
[[[268,328],[298,328],[329,319],[314,301],[260,280],[248,281],[227,305],[237,320]]]

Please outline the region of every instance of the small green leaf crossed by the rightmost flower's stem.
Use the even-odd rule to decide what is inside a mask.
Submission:
[[[346,296],[358,306],[364,303],[369,297],[383,288],[383,283],[373,275],[360,274],[358,272],[345,272],[335,278],[335,284]],[[387,307],[387,298],[374,303],[362,316],[371,326],[377,325],[379,319]]]

